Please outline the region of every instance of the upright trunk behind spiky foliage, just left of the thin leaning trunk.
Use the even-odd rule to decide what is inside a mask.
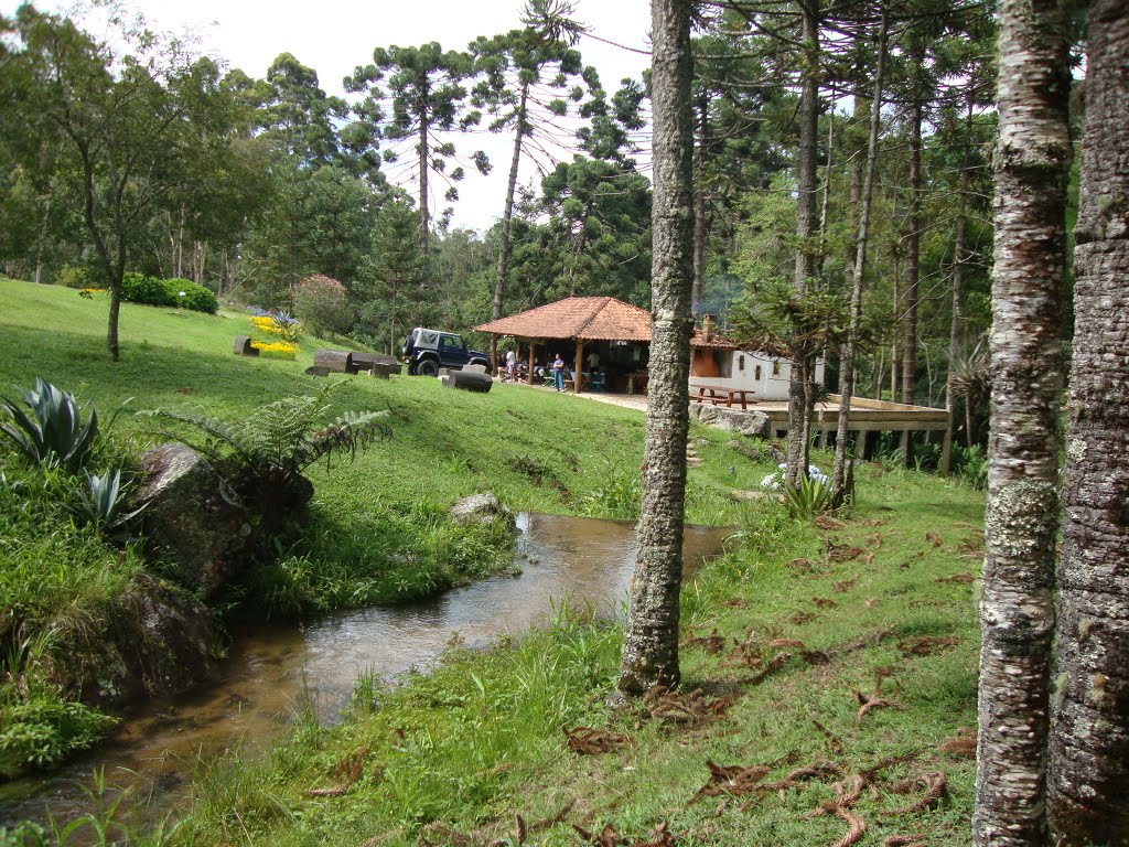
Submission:
[[[819,0],[802,3],[804,41],[804,81],[799,93],[799,157],[796,191],[796,270],[793,286],[803,296],[815,276],[819,245],[813,243],[816,222],[815,154],[820,117],[820,5]],[[794,328],[791,373],[788,381],[788,462],[787,484],[797,488],[807,478],[808,442],[812,409],[807,399],[811,386],[805,377],[813,370],[813,343]]]

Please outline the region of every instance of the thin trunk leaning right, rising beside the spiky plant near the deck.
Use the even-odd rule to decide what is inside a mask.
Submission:
[[[878,67],[874,72],[874,97],[870,101],[870,137],[866,142],[866,175],[863,178],[861,208],[858,215],[858,237],[856,238],[855,263],[852,265],[850,318],[847,326],[847,343],[843,344],[839,375],[839,425],[835,428],[835,461],[831,469],[831,500],[840,506],[851,495],[851,474],[847,464],[854,454],[854,445],[848,449],[848,421],[850,401],[855,393],[855,357],[863,329],[863,277],[866,273],[866,243],[870,235],[870,199],[874,195],[874,171],[878,160],[878,129],[882,125],[882,85],[886,71],[886,5],[881,3],[882,23],[878,28]],[[891,368],[894,364],[891,363]],[[881,391],[882,383],[878,387]]]

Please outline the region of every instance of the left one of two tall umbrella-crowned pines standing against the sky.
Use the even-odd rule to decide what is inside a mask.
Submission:
[[[448,187],[445,198],[458,199],[454,183],[460,182],[465,171],[457,164],[457,151],[450,141],[444,141],[438,133],[450,130],[466,130],[481,120],[481,114],[467,108],[467,89],[463,82],[473,71],[470,53],[447,50],[438,42],[419,47],[376,47],[373,62],[357,68],[345,79],[350,91],[364,91],[365,97],[356,112],[362,120],[383,117],[382,137],[391,142],[384,151],[387,163],[399,159],[396,145],[414,142],[414,175],[419,184],[420,255],[426,256],[431,233],[431,175],[441,176]],[[383,82],[384,87],[380,87]],[[382,107],[380,104],[385,104]],[[490,169],[490,163],[481,150],[471,159],[480,173]],[[455,167],[448,171],[448,163]]]

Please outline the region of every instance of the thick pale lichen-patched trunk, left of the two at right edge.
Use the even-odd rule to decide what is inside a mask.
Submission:
[[[999,5],[991,435],[973,839],[1047,842],[1071,0]]]

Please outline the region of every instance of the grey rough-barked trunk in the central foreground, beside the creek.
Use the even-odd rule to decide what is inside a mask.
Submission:
[[[693,315],[690,0],[653,0],[650,382],[634,580],[616,698],[679,683],[679,591]]]

